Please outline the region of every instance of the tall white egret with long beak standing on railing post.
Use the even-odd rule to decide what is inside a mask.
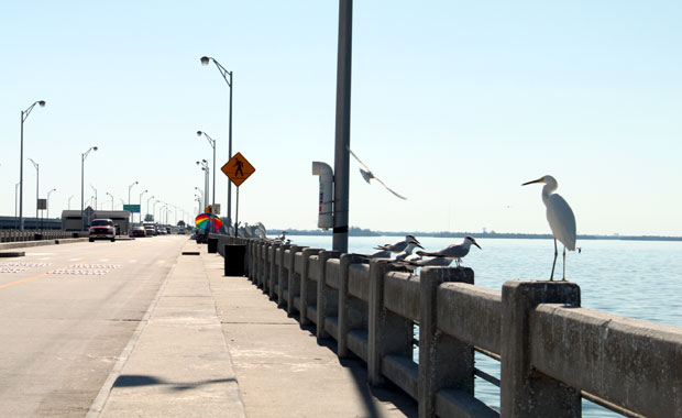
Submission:
[[[559,187],[557,179],[552,176],[540,177],[537,180],[524,183],[521,186],[534,183],[544,183],[542,187],[542,202],[547,207],[547,221],[554,235],[554,261],[550,280],[554,279],[554,267],[557,266],[557,240],[563,244],[563,278],[566,279],[566,249],[575,251],[575,216],[569,204],[559,195],[553,193]]]

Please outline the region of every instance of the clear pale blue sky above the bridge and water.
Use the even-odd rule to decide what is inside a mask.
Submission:
[[[229,88],[208,55],[234,74],[233,152],[256,169],[239,220],[315,229],[338,16],[332,0],[0,3],[0,215],[14,216],[35,100],[24,156],[40,197],[56,188],[51,216],[79,209],[90,146],[86,200],[120,208],[139,182],[143,212],[196,213],[196,162],[212,160],[196,131],[229,158]],[[676,0],[355,1],[351,148],[407,200],[351,160],[350,226],[548,233],[541,186],[520,185],[549,174],[579,233],[682,235],[680,21]],[[25,216],[35,187],[25,160]]]

